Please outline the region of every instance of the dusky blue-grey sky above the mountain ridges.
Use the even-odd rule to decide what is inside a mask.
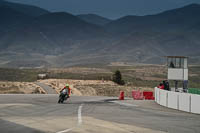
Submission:
[[[95,13],[108,18],[125,15],[155,14],[182,7],[200,0],[9,0],[36,5],[49,11],[65,11],[72,14]]]

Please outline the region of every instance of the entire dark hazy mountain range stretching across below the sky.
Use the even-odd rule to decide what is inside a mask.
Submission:
[[[111,62],[200,63],[200,5],[110,20],[0,1],[0,66],[65,67]]]

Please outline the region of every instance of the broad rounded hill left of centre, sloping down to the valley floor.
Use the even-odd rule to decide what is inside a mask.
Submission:
[[[103,46],[101,40],[107,36],[103,28],[72,14],[49,13],[6,32],[0,41],[0,60],[5,67],[62,66],[70,63],[72,57]]]

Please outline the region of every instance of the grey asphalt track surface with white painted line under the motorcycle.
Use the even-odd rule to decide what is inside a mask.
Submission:
[[[200,115],[154,101],[109,97],[0,95],[1,133],[199,133]]]

